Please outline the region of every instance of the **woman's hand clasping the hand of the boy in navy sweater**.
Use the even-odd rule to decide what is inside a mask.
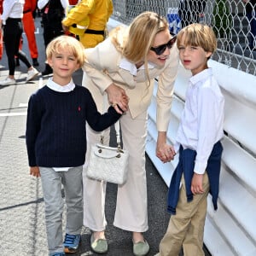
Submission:
[[[108,93],[108,102],[113,106],[117,113],[128,110],[129,97],[125,90],[115,84],[110,84],[106,89]],[[122,111],[120,109],[122,109]]]

